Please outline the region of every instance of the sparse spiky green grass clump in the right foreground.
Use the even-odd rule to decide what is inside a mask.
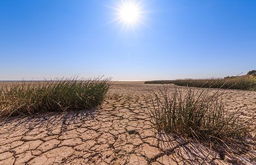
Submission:
[[[150,113],[153,125],[159,134],[176,134],[191,139],[220,143],[245,143],[250,137],[252,120],[239,117],[239,110],[227,113],[220,102],[220,93],[209,90],[191,90],[183,93],[175,89],[168,95],[167,88],[161,95],[154,93]]]

